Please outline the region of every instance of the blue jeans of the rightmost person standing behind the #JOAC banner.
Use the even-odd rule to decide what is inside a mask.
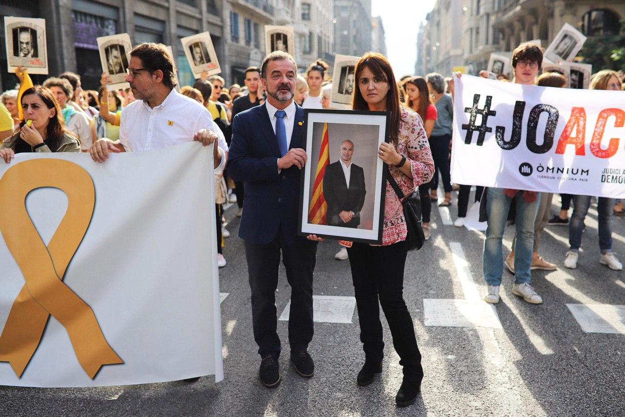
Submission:
[[[597,212],[599,217],[599,249],[602,254],[612,252],[612,209],[614,198],[599,197]],[[584,218],[590,207],[589,195],[573,196],[573,214],[569,226],[569,245],[573,252],[579,252],[582,245],[582,232],[584,231]]]

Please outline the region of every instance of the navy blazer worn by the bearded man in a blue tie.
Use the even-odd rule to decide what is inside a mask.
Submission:
[[[289,121],[290,122],[290,121]],[[291,148],[304,145],[304,109],[296,104]],[[267,106],[242,111],[232,119],[232,143],[228,150],[227,171],[235,181],[244,182],[245,199],[239,237],[252,244],[269,244],[282,230],[285,245],[312,242],[297,236],[299,178],[293,165],[278,173],[280,150],[269,120]]]

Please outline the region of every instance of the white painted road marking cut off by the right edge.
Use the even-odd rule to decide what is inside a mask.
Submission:
[[[566,304],[586,333],[625,334],[625,306]]]

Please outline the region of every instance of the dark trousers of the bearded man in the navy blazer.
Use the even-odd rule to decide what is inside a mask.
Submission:
[[[291,285],[289,312],[289,344],[291,351],[305,351],[312,340],[312,271],[317,259],[317,243],[287,246],[281,242],[282,232],[267,245],[245,242],[249,287],[252,290],[252,326],[258,353],[271,354],[277,360],[281,346],[277,336],[276,287],[282,263]]]

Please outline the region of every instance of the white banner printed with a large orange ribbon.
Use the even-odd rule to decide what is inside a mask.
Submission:
[[[1,385],[223,379],[209,148],[21,153],[0,201]]]

